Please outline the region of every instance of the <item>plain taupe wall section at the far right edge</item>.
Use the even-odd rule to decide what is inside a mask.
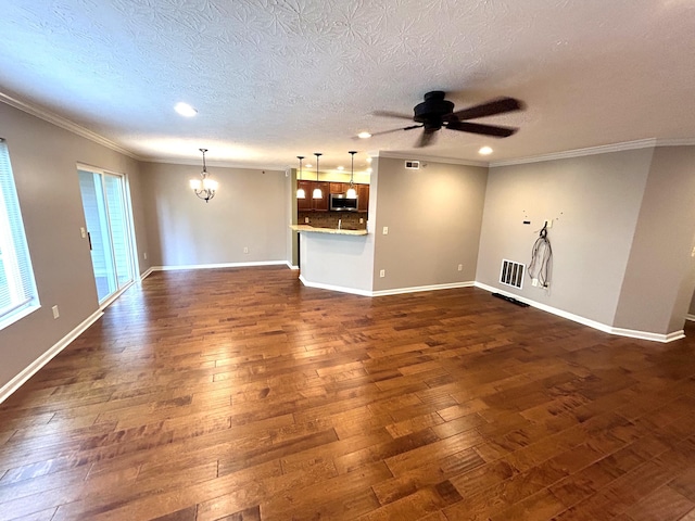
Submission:
[[[695,288],[695,147],[654,152],[614,326],[683,329]]]

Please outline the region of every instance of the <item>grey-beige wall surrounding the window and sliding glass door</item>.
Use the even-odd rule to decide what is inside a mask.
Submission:
[[[99,309],[77,163],[126,174],[132,201],[140,272],[148,249],[137,161],[0,103],[41,307],[0,331],[0,389]],[[53,319],[52,306],[60,318]]]

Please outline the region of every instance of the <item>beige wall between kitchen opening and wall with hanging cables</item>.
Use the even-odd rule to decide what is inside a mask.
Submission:
[[[486,179],[486,167],[379,157],[374,291],[472,282]]]

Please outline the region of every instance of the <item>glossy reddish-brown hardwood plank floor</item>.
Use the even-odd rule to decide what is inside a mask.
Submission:
[[[0,405],[0,519],[695,520],[695,330],[155,272]]]

